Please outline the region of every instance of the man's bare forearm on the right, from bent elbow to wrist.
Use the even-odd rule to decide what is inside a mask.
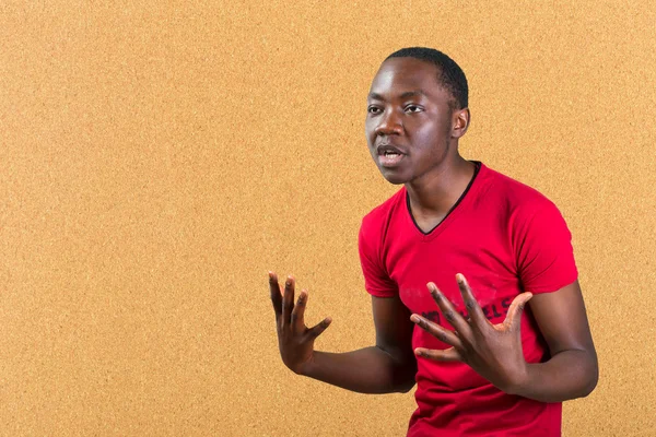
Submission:
[[[597,358],[584,350],[563,351],[546,363],[529,364],[523,381],[508,391],[541,402],[588,395],[597,385]]]

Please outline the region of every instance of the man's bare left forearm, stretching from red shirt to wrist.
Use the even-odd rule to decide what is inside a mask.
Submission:
[[[395,359],[372,346],[347,353],[314,352],[302,375],[360,393],[407,392],[414,386],[417,361]]]

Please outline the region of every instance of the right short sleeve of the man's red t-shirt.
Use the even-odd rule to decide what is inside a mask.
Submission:
[[[515,250],[524,290],[549,293],[576,281],[572,234],[555,204],[543,202],[519,223]]]

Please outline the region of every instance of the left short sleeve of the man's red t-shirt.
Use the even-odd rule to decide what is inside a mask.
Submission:
[[[379,250],[380,236],[376,235],[375,231],[365,217],[358,236],[364,287],[373,296],[393,297],[398,294],[398,287],[383,265]]]

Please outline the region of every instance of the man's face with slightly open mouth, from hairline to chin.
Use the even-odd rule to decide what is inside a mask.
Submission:
[[[372,157],[391,184],[415,181],[437,169],[447,156],[453,96],[437,73],[429,62],[391,58],[374,78],[365,131]]]

